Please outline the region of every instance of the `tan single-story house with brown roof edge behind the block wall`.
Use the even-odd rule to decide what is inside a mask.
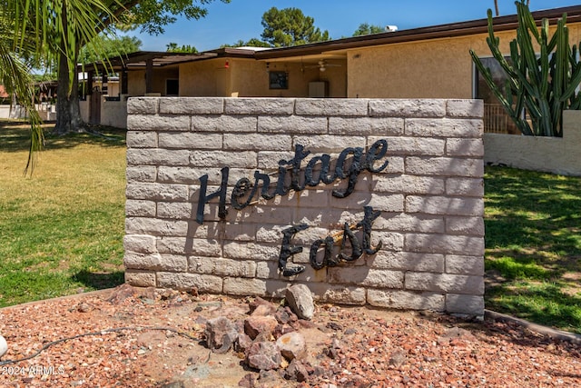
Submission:
[[[570,43],[578,43],[581,5],[533,13],[539,25],[547,18],[552,26],[564,14]],[[495,33],[507,55],[516,27],[517,15],[494,18]],[[119,101],[97,99],[103,104],[100,121],[124,126],[123,104],[127,97],[138,95],[482,98],[486,131],[510,132],[510,120],[495,104],[468,54],[473,49],[493,62],[486,38],[483,18],[284,48],[133,53],[123,61],[112,61],[120,76]],[[103,71],[98,65],[87,69]]]

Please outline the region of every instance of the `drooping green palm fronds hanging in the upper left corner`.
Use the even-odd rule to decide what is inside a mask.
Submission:
[[[33,79],[25,58],[48,61],[59,56],[59,65],[74,68],[80,45],[94,39],[95,25],[99,26],[103,15],[111,12],[102,0],[0,0],[0,81],[17,95],[30,117],[32,141],[25,171],[32,171],[34,154],[43,145]],[[68,91],[74,78],[70,72]]]

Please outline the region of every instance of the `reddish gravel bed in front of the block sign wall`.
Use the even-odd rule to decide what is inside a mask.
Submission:
[[[327,304],[300,322],[308,380],[288,381],[204,346],[206,319],[248,310],[244,299],[131,287],[6,308],[0,386],[581,387],[581,346],[516,323]]]

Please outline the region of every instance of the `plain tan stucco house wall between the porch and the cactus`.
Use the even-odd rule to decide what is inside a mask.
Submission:
[[[581,39],[581,25],[569,25],[570,43]],[[498,33],[510,53],[513,32]],[[473,98],[474,68],[468,50],[491,56],[487,34],[434,39],[350,50],[348,97]]]

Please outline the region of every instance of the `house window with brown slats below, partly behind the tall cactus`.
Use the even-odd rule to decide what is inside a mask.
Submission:
[[[506,57],[506,59],[510,63],[510,58]],[[498,61],[494,57],[480,58],[480,60],[482,65],[490,69],[494,83],[504,90],[508,76],[498,64]],[[474,66],[474,72],[474,96],[484,100],[484,131],[499,134],[520,134],[517,125],[506,113],[497,96],[488,87],[484,77],[478,72],[476,65]]]

